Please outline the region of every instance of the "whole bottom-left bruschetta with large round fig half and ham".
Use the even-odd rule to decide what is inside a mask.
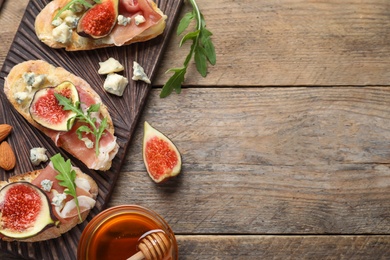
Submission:
[[[53,239],[83,222],[96,204],[98,186],[61,154],[43,169],[0,182],[0,238]]]

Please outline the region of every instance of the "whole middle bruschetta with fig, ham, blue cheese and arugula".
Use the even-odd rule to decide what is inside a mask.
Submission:
[[[34,127],[89,169],[111,168],[119,145],[107,107],[82,78],[42,60],[17,64],[4,92]]]

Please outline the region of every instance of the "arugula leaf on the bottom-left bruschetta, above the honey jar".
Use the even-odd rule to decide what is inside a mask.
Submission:
[[[62,187],[65,187],[64,193],[73,197],[76,207],[77,213],[79,215],[79,220],[82,222],[79,200],[77,199],[76,194],[76,171],[72,169],[72,164],[68,159],[65,159],[61,156],[61,154],[56,154],[50,158],[50,161],[53,163],[54,169],[58,172],[56,175],[56,179],[59,180],[59,184]]]

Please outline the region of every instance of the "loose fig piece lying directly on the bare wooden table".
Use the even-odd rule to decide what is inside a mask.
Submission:
[[[180,173],[181,156],[173,142],[153,128],[144,124],[143,160],[152,180],[161,183]]]

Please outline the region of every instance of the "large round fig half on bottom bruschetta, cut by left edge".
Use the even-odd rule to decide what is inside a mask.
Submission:
[[[56,222],[47,195],[29,182],[13,182],[0,190],[0,233],[6,237],[32,237]]]

